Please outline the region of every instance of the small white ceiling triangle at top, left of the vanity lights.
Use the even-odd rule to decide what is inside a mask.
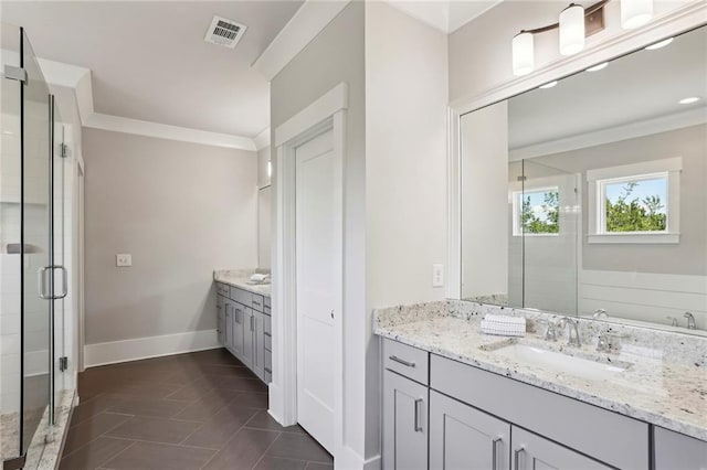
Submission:
[[[408,13],[445,33],[451,33],[484,14],[503,0],[386,0],[398,10]]]

